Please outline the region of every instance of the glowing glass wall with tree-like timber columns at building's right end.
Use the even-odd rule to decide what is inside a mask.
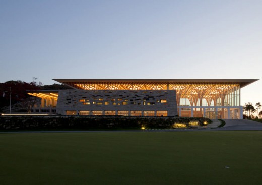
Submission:
[[[240,106],[238,84],[192,84],[186,85],[182,92],[176,93],[179,98],[177,100],[179,116],[208,118],[239,118],[240,116],[240,109],[235,108]]]

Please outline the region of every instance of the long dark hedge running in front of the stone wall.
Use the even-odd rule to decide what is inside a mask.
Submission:
[[[198,121],[199,126],[211,122],[203,117],[136,117],[136,116],[0,116],[0,130],[39,129],[164,129],[174,124]]]

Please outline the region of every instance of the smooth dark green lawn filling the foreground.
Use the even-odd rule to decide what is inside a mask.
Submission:
[[[0,134],[0,184],[261,184],[262,132]]]

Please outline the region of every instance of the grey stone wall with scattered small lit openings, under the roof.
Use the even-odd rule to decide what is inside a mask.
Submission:
[[[175,90],[59,90],[56,113],[66,115],[67,111],[79,114],[83,111],[101,111],[107,115],[108,111],[153,112],[154,116],[177,115]],[[145,113],[145,114],[144,114]]]

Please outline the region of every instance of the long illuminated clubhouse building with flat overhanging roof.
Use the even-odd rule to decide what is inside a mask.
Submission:
[[[242,118],[241,88],[255,79],[53,79],[74,89],[29,93],[67,115]],[[34,111],[39,107],[34,107]],[[41,111],[41,110],[40,110]]]

